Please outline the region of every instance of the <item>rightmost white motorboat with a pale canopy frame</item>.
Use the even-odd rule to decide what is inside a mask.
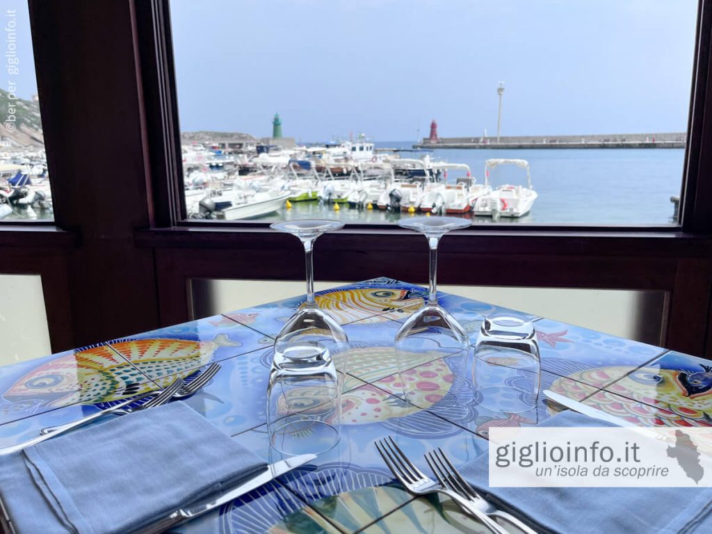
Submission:
[[[491,188],[490,171],[502,165],[513,165],[525,169],[526,186],[505,184]],[[518,218],[528,214],[538,194],[532,187],[529,162],[525,159],[488,159],[485,162],[485,187],[490,191],[483,191],[479,197],[471,200],[473,214],[499,217]]]

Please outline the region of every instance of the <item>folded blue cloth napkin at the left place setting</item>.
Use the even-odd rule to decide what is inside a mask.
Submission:
[[[0,498],[19,534],[123,534],[265,465],[172,402],[0,456]]]

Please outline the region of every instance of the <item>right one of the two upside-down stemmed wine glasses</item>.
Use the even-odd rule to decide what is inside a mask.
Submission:
[[[430,247],[428,301],[406,320],[395,339],[403,396],[417,405],[469,402],[472,391],[464,377],[470,360],[470,342],[464,328],[438,305],[436,279],[441,237],[451,230],[470,226],[471,221],[457,217],[425,216],[402,219],[398,224],[424,234]],[[413,369],[418,362],[446,355],[445,362],[450,370],[446,375],[429,377],[427,371],[419,373]]]

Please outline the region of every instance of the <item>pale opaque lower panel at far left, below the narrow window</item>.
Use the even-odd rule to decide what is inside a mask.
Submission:
[[[51,352],[41,277],[0,274],[0,366]]]

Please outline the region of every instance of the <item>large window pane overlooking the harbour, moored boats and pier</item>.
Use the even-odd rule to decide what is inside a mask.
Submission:
[[[188,216],[673,224],[696,7],[172,0]]]

